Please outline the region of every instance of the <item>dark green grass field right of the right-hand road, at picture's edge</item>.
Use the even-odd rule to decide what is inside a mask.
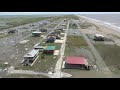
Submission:
[[[95,45],[108,66],[120,64],[120,47],[117,45]]]

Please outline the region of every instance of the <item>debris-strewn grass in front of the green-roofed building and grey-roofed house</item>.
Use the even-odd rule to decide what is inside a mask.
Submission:
[[[42,56],[42,53],[39,54],[39,58],[34,63],[33,66],[22,66],[21,64],[19,64],[19,66],[16,67],[15,69],[34,70],[34,71],[40,71],[40,72],[48,72],[50,70],[53,70],[58,60],[57,56],[44,55],[44,59],[41,59],[41,56]]]

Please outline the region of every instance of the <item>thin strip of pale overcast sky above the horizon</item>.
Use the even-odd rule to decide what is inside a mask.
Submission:
[[[0,15],[120,14],[120,12],[0,12]]]

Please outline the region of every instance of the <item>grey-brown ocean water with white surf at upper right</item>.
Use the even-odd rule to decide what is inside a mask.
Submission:
[[[115,30],[120,31],[120,14],[83,14],[81,16],[102,22],[108,26],[111,26]]]

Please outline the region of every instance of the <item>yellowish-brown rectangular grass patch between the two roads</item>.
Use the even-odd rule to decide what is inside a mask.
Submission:
[[[67,45],[76,46],[76,47],[88,46],[88,44],[86,43],[86,41],[82,36],[74,36],[74,35],[67,36]]]

